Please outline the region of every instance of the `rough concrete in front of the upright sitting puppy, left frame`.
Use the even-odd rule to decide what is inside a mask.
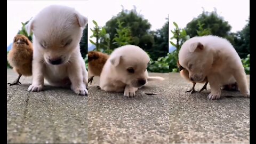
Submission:
[[[7,69],[7,82],[18,75]],[[7,85],[7,143],[87,143],[87,96],[46,86],[28,92],[31,77],[22,85]]]

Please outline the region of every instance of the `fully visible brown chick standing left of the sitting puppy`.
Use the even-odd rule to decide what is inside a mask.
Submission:
[[[16,35],[13,39],[12,49],[7,55],[7,60],[19,77],[11,85],[21,84],[20,77],[32,75],[33,44],[24,35]]]

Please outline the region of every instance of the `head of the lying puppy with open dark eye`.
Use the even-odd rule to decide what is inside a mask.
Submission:
[[[122,82],[133,87],[147,83],[145,74],[149,63],[148,54],[135,45],[125,45],[117,48],[109,57],[109,61]]]

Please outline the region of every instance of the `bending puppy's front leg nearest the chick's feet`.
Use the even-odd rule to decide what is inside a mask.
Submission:
[[[221,95],[221,90],[220,90],[220,83],[219,81],[216,81],[217,78],[214,76],[207,76],[209,80],[209,84],[211,87],[211,93],[208,95],[208,99],[219,99]]]

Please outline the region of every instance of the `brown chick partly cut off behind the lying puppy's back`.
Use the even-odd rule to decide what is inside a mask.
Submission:
[[[100,76],[100,73],[105,65],[107,59],[109,58],[108,54],[90,51],[88,53],[88,71],[91,77],[88,79],[88,83],[93,81],[94,76]]]

